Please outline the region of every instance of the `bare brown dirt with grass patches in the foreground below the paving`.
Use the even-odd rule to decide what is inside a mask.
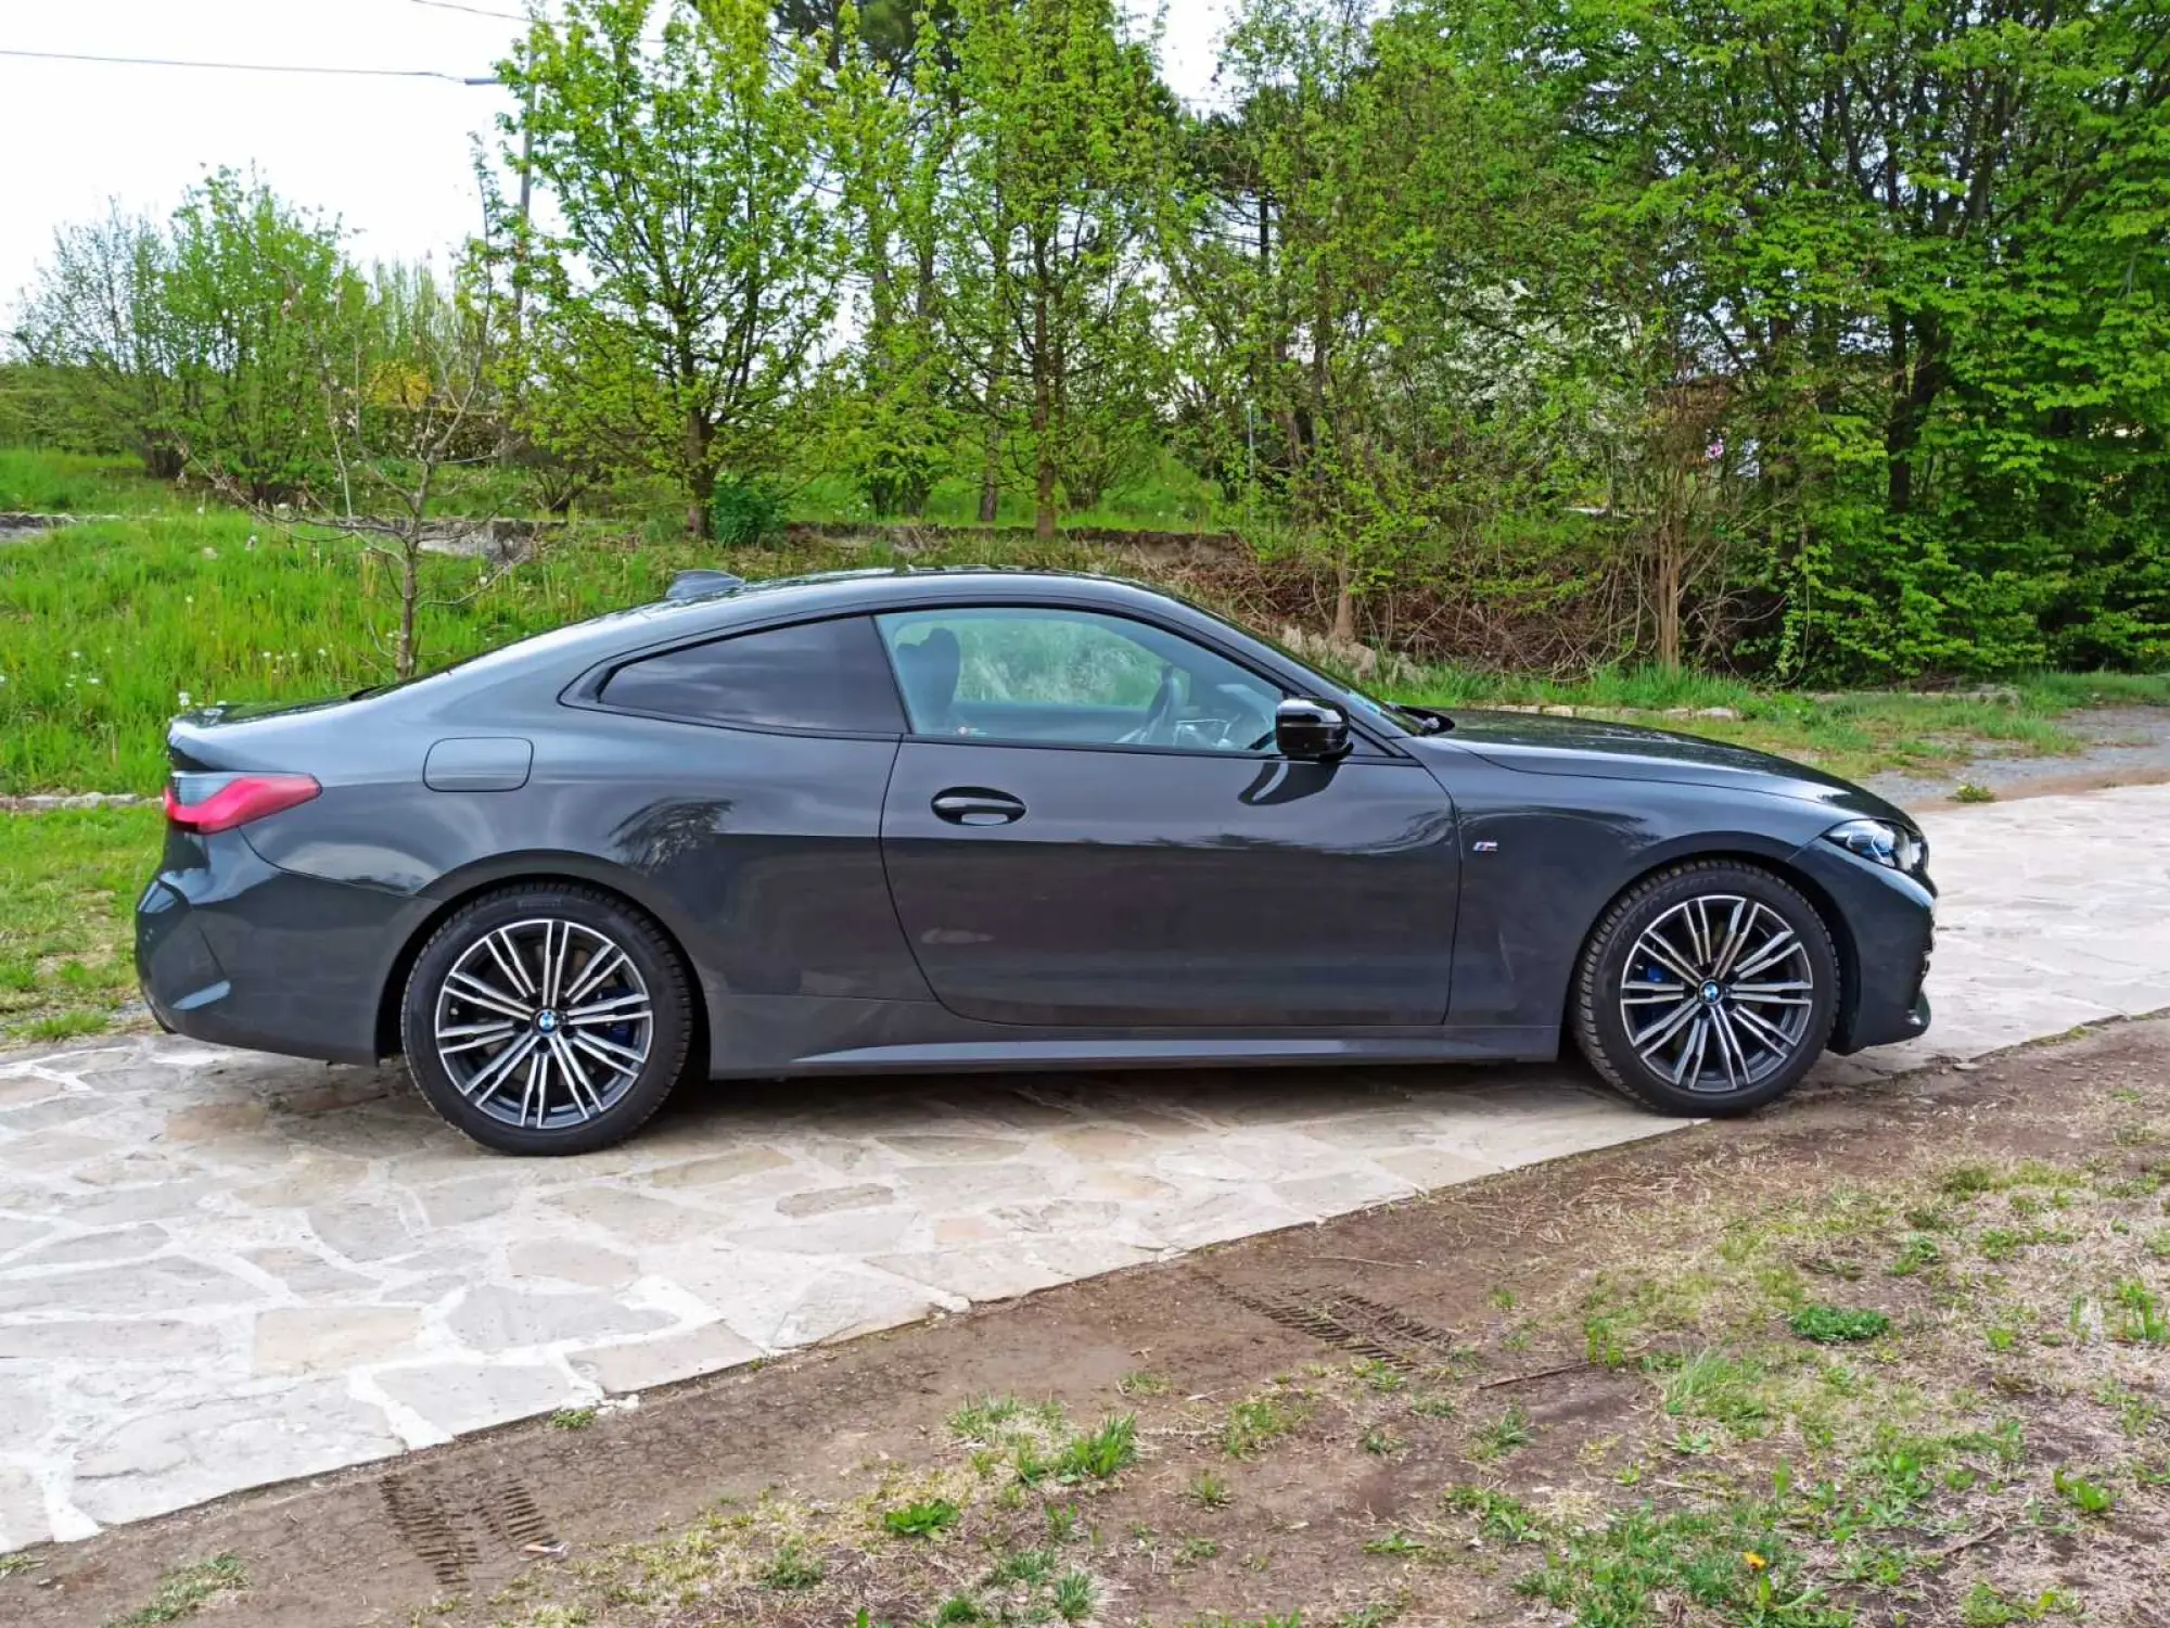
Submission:
[[[2120,1025],[30,1552],[0,1621],[2159,1626],[2166,1192]]]

